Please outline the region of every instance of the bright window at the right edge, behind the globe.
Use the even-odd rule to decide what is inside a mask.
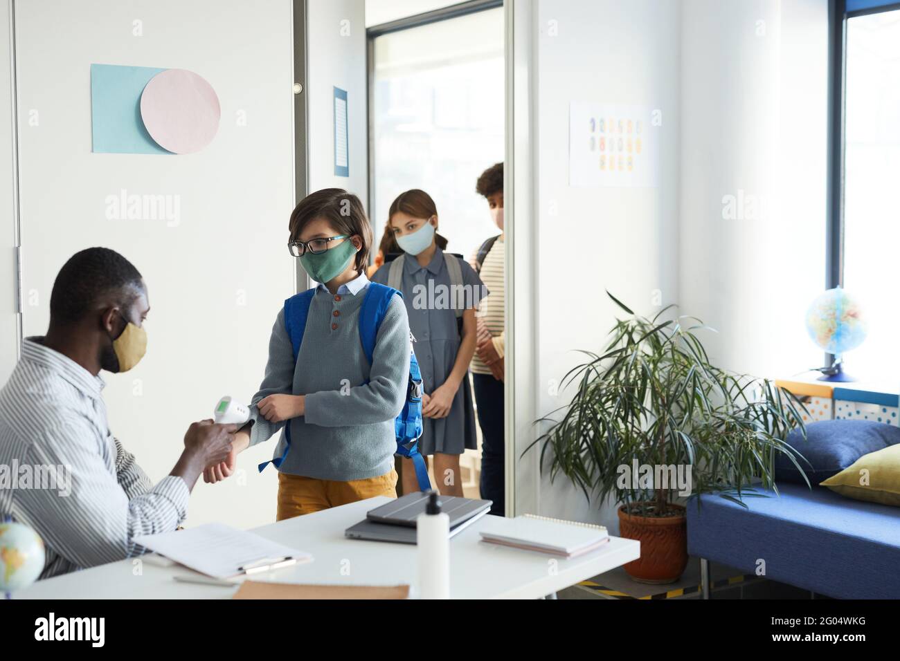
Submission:
[[[849,0],[847,9],[876,4]],[[850,13],[845,30],[842,286],[869,321],[847,370],[884,380],[900,368],[900,8]]]

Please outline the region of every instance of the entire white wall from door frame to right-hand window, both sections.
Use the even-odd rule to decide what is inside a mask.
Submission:
[[[530,374],[529,361],[535,371],[530,384],[515,380],[518,451],[536,435],[531,420],[571,397],[552,393],[581,362],[572,351],[596,351],[607,336],[605,289],[644,314],[660,290],[662,305],[719,331],[704,339],[725,368],[784,377],[817,364],[803,316],[824,284],[826,0],[527,5],[536,25],[517,31],[513,52],[532,107],[516,110],[517,133],[536,147],[520,163],[517,135],[514,185],[516,227],[534,246],[517,250],[514,286],[534,311],[536,342],[533,355],[514,349],[517,373]],[[568,185],[572,101],[662,110],[658,189]],[[729,194],[743,195],[743,219],[723,217]],[[755,218],[751,195],[764,210]],[[517,513],[617,530],[610,505],[589,504],[568,478],[537,478],[536,452],[516,462]]]

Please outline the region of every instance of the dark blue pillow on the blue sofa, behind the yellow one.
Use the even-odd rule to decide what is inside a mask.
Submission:
[[[813,486],[848,468],[864,454],[900,443],[900,428],[871,420],[822,420],[806,425],[806,441],[799,430],[788,434],[788,445]],[[800,471],[781,452],[775,456],[775,481],[806,484]]]

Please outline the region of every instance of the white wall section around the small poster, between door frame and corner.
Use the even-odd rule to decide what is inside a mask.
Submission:
[[[657,309],[654,290],[663,305],[678,296],[679,5],[539,0],[536,30],[533,392],[543,415],[568,398],[554,384],[582,362],[574,350],[601,349],[614,320],[604,290],[645,314]],[[660,109],[659,187],[572,188],[572,101]],[[615,524],[613,509],[589,504],[567,478],[551,485],[545,473],[539,488],[540,514]]]

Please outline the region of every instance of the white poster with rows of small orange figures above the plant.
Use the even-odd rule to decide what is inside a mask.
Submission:
[[[572,102],[569,185],[655,188],[662,114],[650,106]]]

